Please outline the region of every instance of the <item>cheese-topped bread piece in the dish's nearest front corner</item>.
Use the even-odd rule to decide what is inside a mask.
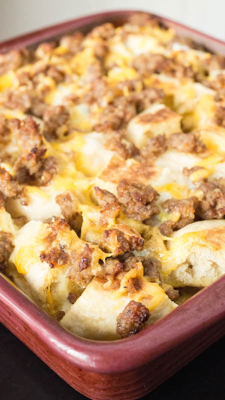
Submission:
[[[142,267],[141,263],[140,269]],[[96,340],[113,340],[120,336],[116,333],[116,317],[130,300],[144,304],[150,311],[147,324],[151,324],[166,315],[176,304],[165,294],[157,284],[148,282],[140,272],[143,287],[137,292],[128,293],[124,279],[135,275],[134,268],[130,269],[121,279],[120,287],[110,287],[110,280],[94,278],[85,288],[81,296],[71,306],[61,320],[61,325],[78,336]]]

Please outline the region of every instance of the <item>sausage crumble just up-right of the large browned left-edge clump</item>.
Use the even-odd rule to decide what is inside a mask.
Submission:
[[[57,129],[68,122],[69,113],[63,105],[49,105],[43,112],[45,137],[57,137]]]

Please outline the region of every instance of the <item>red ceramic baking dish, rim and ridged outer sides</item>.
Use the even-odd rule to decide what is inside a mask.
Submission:
[[[133,11],[85,16],[0,43],[31,46],[75,29],[86,32]],[[179,34],[225,54],[225,43],[161,18]],[[225,332],[225,276],[138,334],[98,342],[76,337],[0,276],[0,321],[68,384],[93,400],[132,400],[145,395]]]

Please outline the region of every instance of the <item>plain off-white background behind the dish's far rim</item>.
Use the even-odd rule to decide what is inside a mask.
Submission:
[[[0,0],[0,40],[76,16],[142,9],[225,39],[225,0]]]

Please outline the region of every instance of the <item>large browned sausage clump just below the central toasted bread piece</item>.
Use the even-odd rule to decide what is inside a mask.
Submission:
[[[159,212],[155,204],[158,193],[151,185],[129,184],[123,179],[117,186],[117,192],[118,201],[123,205],[123,212],[131,218],[143,221]]]

